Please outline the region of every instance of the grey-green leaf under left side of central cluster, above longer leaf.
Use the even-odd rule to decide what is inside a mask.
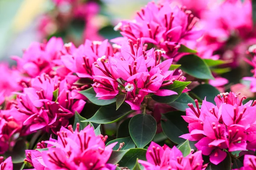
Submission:
[[[98,99],[98,97],[96,97],[95,91],[93,90],[93,87],[88,88],[87,90],[84,90],[84,91],[79,91],[79,93],[84,95],[88,100],[90,100],[90,102],[92,102],[95,105],[104,106],[104,105],[109,105],[111,103],[116,102],[116,98],[109,99],[109,100]]]

